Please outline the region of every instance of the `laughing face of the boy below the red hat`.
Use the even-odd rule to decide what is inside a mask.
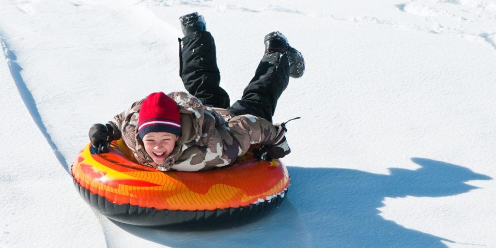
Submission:
[[[171,155],[179,136],[169,132],[149,132],[143,136],[145,150],[152,157],[153,162],[164,164]]]

